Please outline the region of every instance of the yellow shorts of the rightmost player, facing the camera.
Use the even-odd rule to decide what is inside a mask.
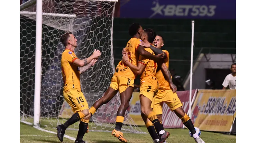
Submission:
[[[151,105],[151,108],[153,108],[157,115],[163,114],[163,102],[167,104],[171,111],[182,107],[177,93],[173,93],[172,90],[158,90],[157,96],[154,99],[154,106]]]

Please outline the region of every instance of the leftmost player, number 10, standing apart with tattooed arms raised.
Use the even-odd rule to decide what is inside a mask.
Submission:
[[[83,60],[76,57],[74,50],[77,47],[77,40],[71,32],[67,32],[61,36],[61,42],[65,46],[65,51],[61,57],[62,76],[64,81],[63,97],[71,106],[74,114],[64,124],[57,126],[57,136],[63,141],[65,130],[68,126],[81,120],[75,143],[85,143],[83,136],[88,128],[89,115],[88,103],[86,102],[80,86],[80,74],[84,73],[97,61],[101,55],[99,50],[94,50],[93,54]],[[79,68],[78,68],[79,67]]]

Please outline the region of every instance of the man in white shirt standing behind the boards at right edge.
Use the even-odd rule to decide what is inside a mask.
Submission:
[[[223,88],[226,89],[229,86],[229,89],[236,89],[236,63],[232,64],[230,67],[231,74],[227,75],[223,81]]]

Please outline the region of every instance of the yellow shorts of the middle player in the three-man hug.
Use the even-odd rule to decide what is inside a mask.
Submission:
[[[139,95],[143,95],[150,99],[152,103],[154,102],[153,98],[157,95],[157,88],[156,86],[149,86],[147,84],[142,84],[140,86]]]

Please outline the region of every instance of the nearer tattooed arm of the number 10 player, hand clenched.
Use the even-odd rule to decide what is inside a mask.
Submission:
[[[98,58],[100,55],[101,55],[101,52],[99,50],[96,51],[96,49],[95,49],[90,57],[88,57],[86,59],[82,59],[82,60],[77,58],[77,59],[75,59],[73,64],[78,67],[83,67],[85,65],[88,65],[88,63],[90,63],[94,58]]]

